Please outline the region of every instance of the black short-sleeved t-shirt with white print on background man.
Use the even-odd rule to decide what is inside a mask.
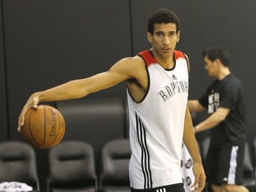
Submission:
[[[230,74],[214,81],[199,100],[211,115],[217,108],[229,108],[226,119],[211,129],[210,148],[242,145],[245,142],[244,92],[239,79]]]

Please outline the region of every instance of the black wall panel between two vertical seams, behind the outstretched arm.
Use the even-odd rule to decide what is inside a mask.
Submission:
[[[128,1],[4,0],[4,23],[12,140],[20,140],[16,119],[32,92],[131,56]],[[124,94],[121,84],[94,97]]]

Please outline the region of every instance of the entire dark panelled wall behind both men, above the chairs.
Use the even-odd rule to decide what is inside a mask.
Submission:
[[[196,0],[193,3],[131,0],[131,12],[128,0],[2,0],[2,3],[4,38],[2,29],[0,35],[5,44],[4,49],[1,44],[0,101],[1,106],[6,104],[5,91],[8,90],[11,139],[20,139],[16,132],[17,117],[32,92],[91,76],[107,70],[120,58],[148,49],[148,15],[160,7],[180,16],[181,39],[177,49],[186,52],[190,59],[190,99],[199,97],[212,82],[204,71],[201,52],[212,44],[227,47],[231,69],[244,83],[249,137],[255,135],[254,0]],[[124,97],[124,94],[124,84],[121,84],[93,97]],[[1,126],[5,126],[8,113],[4,108],[0,110]]]

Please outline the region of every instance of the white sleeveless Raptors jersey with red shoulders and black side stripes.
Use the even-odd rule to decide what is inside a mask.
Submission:
[[[188,101],[188,62],[174,51],[172,69],[164,69],[150,51],[140,52],[148,70],[148,90],[140,102],[127,92],[132,156],[132,188],[182,183],[181,145]]]

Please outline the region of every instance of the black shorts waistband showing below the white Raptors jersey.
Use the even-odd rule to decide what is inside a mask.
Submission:
[[[159,188],[148,188],[148,189],[134,189],[131,188],[132,192],[185,192],[183,188],[183,183],[178,183],[174,185],[159,187]]]

